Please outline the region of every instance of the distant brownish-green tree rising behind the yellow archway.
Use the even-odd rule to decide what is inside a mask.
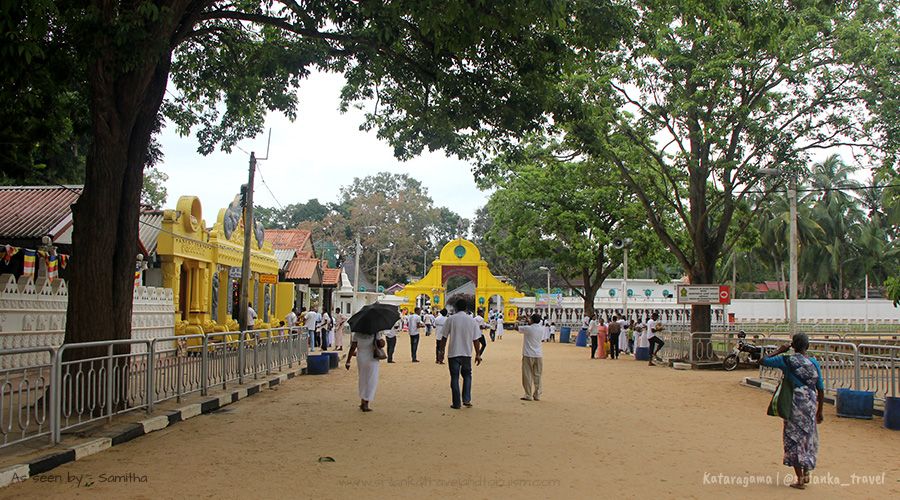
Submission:
[[[381,284],[387,288],[420,278],[423,258],[435,259],[445,243],[468,227],[467,219],[435,207],[418,180],[381,172],[342,187],[341,202],[313,230],[316,239],[334,242],[346,258],[355,255],[359,235],[360,269],[370,276],[375,275],[376,252],[390,248],[381,256]]]

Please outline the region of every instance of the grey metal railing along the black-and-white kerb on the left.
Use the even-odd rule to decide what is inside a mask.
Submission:
[[[23,354],[35,361],[4,362]],[[55,444],[63,431],[301,366],[307,355],[308,335],[287,328],[0,349],[0,448],[42,436]]]

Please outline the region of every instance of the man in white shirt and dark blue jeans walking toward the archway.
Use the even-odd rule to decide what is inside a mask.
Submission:
[[[443,335],[447,337],[447,361],[450,367],[450,392],[453,404],[450,408],[460,409],[460,403],[472,406],[472,350],[475,350],[475,364],[481,364],[481,348],[478,339],[481,331],[475,319],[466,314],[465,299],[454,304],[456,313],[447,318]],[[459,391],[459,376],[462,375],[462,394]]]

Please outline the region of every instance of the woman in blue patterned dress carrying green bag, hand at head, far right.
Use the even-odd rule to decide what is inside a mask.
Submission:
[[[784,355],[790,348],[794,354]],[[762,364],[780,368],[794,385],[791,417],[784,420],[784,465],[794,468],[797,482],[792,488],[804,489],[809,483],[809,471],[816,468],[819,452],[817,424],[822,423],[822,402],[825,399],[822,370],[819,363],[806,355],[809,338],[804,333],[795,334],[790,345],[783,345]]]

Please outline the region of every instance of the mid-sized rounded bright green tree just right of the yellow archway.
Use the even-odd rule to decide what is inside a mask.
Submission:
[[[494,222],[489,239],[512,259],[550,262],[592,314],[597,291],[622,265],[623,251],[612,248],[613,238],[634,240],[636,267],[655,264],[663,252],[614,165],[560,160],[554,147],[530,144],[500,158],[504,174],[491,178],[497,191],[487,204]]]

